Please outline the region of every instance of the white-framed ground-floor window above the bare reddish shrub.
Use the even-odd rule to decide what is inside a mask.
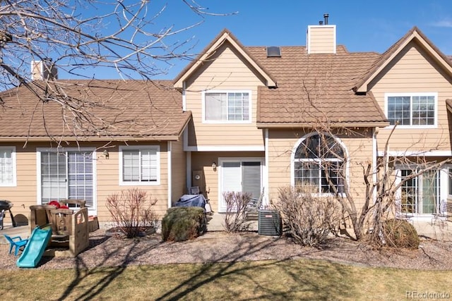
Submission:
[[[120,147],[121,185],[160,184],[160,147]]]

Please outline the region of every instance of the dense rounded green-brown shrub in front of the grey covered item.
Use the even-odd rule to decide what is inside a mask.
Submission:
[[[207,231],[206,214],[201,207],[173,207],[162,219],[163,241],[184,241]]]

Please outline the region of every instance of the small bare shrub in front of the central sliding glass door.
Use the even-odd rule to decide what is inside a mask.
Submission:
[[[224,192],[226,202],[225,231],[234,233],[249,229],[249,221],[246,220],[246,206],[251,201],[249,193]]]

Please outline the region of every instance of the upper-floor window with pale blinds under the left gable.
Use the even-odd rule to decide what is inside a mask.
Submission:
[[[204,121],[245,123],[251,121],[251,92],[204,92]]]

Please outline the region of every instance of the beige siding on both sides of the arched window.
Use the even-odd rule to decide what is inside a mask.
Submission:
[[[364,203],[365,185],[362,166],[372,162],[371,130],[355,130],[355,134],[336,134],[347,149],[348,183],[351,195],[357,206]],[[299,139],[312,133],[311,130],[269,130],[268,133],[268,197],[270,201],[278,201],[278,188],[290,185],[292,179],[291,155]]]

